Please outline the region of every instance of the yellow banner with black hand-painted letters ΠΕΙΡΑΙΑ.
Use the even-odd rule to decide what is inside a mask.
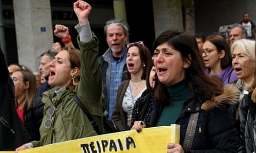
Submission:
[[[166,152],[170,143],[170,126],[144,128],[138,133],[135,130],[97,135],[45,145],[25,152],[73,152],[73,153],[101,153],[101,152]],[[14,152],[14,151],[0,151]]]

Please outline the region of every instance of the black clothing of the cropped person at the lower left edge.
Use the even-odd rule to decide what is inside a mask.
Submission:
[[[14,84],[0,50],[0,151],[15,150],[30,139],[15,109]]]

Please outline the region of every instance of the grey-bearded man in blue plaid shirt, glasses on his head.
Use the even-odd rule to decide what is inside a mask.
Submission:
[[[124,72],[127,71],[126,43],[129,33],[122,20],[107,21],[104,32],[109,48],[99,59],[102,70],[102,91],[106,100],[104,116],[111,118],[115,108],[117,88],[122,81],[126,80]]]

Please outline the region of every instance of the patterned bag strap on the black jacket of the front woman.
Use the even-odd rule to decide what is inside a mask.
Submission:
[[[197,128],[198,115],[199,115],[199,112],[195,112],[190,115],[187,131],[186,131],[186,135],[183,143],[183,149],[185,152],[190,150],[192,146],[194,135],[195,135],[195,129]]]

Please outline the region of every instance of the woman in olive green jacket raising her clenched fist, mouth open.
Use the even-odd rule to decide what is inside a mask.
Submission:
[[[54,88],[43,93],[44,116],[40,126],[41,139],[17,148],[37,146],[97,135],[89,118],[74,100],[74,94],[87,107],[103,133],[103,104],[99,41],[90,29],[88,16],[91,5],[74,2],[74,12],[79,24],[75,26],[79,36],[78,49],[64,47],[50,63],[49,84]]]

